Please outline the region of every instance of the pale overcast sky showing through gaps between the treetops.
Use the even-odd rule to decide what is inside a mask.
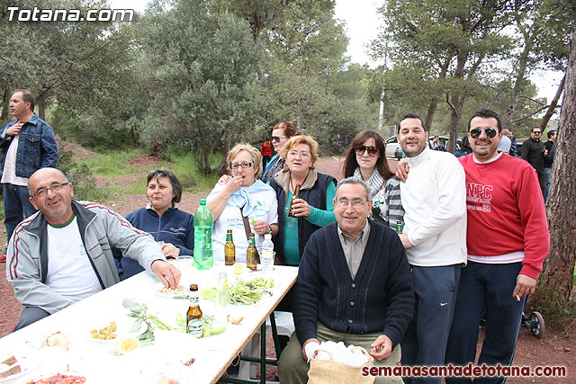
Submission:
[[[112,8],[134,9],[143,12],[148,0],[110,0]],[[372,61],[365,45],[378,35],[382,19],[377,13],[383,0],[337,0],[336,17],[346,23],[346,33],[349,39],[347,55],[354,63],[377,67],[381,63]],[[556,89],[562,80],[563,73],[554,71],[538,71],[530,79],[538,87],[538,96],[552,100]]]

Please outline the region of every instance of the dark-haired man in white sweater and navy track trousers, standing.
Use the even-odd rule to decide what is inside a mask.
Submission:
[[[428,148],[428,131],[418,115],[398,127],[410,177],[401,183],[404,232],[414,279],[414,317],[401,342],[403,366],[444,365],[454,315],[460,270],[466,263],[466,188],[464,168],[447,152]],[[418,382],[438,383],[441,378]],[[406,383],[416,378],[404,378]]]

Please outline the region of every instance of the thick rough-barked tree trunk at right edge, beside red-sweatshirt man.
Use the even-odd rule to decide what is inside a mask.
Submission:
[[[550,254],[540,273],[540,286],[557,292],[564,302],[570,299],[576,259],[576,31],[572,44],[560,125],[554,148],[552,186],[546,213],[550,228]]]

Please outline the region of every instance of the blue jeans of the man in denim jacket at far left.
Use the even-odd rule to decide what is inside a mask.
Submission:
[[[4,192],[4,225],[6,226],[7,241],[14,233],[16,226],[23,219],[33,215],[36,210],[32,207],[28,198],[28,188],[14,184],[2,184]]]

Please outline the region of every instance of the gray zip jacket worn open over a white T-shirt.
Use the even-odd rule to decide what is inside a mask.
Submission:
[[[139,262],[151,272],[155,260],[166,260],[162,249],[148,233],[133,228],[110,208],[90,201],[72,201],[80,237],[102,289],[120,281],[110,246]],[[14,230],[8,245],[6,279],[16,299],[25,307],[39,307],[49,314],[74,303],[45,284],[48,274],[48,223],[37,212]]]

